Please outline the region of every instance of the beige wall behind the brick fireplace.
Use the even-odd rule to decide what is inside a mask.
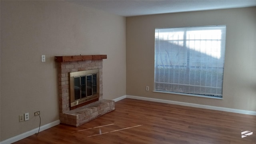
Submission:
[[[0,141],[37,128],[38,110],[41,125],[59,119],[54,56],[107,54],[103,98],[124,96],[125,26],[125,17],[69,2],[1,0]]]

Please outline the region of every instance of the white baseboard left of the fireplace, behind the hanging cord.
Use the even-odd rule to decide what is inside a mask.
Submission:
[[[51,128],[51,127],[53,127],[53,126],[56,126],[56,125],[58,125],[58,124],[60,124],[60,120],[56,120],[56,121],[54,121],[54,122],[51,122],[51,123],[46,124],[46,125],[44,125],[44,126],[41,126],[39,132],[41,132],[41,131],[43,131],[43,130],[46,130],[46,129],[48,129],[48,128]],[[26,138],[26,137],[28,137],[28,136],[32,136],[33,134],[36,134],[36,133],[38,132],[38,129],[39,129],[39,127],[38,127],[38,128],[35,128],[35,129],[33,129],[33,130],[30,130],[30,131],[28,131],[28,132],[24,132],[23,134],[19,134],[18,136],[14,136],[14,137],[12,137],[12,138],[8,138],[7,140],[4,140],[4,141],[0,142],[0,144],[11,144],[11,143],[13,143],[13,142],[17,142],[17,141],[19,141],[19,140],[22,140],[23,138]],[[39,134],[40,134],[40,133],[39,133]]]

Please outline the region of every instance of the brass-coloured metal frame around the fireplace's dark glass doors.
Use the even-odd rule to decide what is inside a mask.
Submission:
[[[75,100],[75,90],[74,90],[74,78],[81,77],[81,76],[93,76],[96,74],[97,80],[96,80],[96,94],[92,94],[91,96],[86,96],[84,98],[80,98],[78,100]],[[94,100],[99,98],[99,92],[100,92],[100,74],[99,74],[99,69],[94,69],[94,70],[83,70],[83,71],[78,71],[78,72],[70,72],[69,73],[69,78],[70,78],[70,107],[77,106],[79,104],[83,104],[85,102],[89,102],[90,100]],[[87,89],[87,86],[86,86]],[[86,90],[87,93],[87,90]]]

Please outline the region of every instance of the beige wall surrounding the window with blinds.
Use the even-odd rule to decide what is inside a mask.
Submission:
[[[155,28],[208,25],[227,25],[223,100],[152,92]],[[255,54],[256,7],[128,17],[126,94],[256,111]]]

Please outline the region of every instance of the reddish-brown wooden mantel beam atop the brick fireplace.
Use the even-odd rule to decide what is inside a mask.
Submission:
[[[106,59],[107,55],[79,55],[79,56],[55,56],[56,62],[72,62],[82,60],[101,60]]]

